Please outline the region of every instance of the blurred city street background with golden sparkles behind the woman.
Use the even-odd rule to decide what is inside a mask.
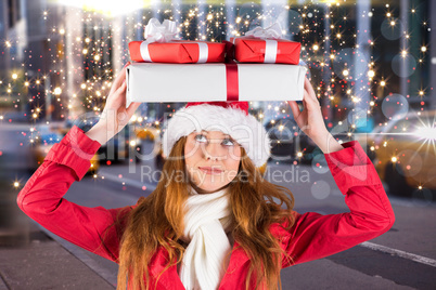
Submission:
[[[383,182],[394,226],[282,269],[283,289],[436,289],[435,13],[429,0],[1,1],[0,290],[116,289],[116,263],[50,233],[16,199],[54,144],[73,127],[88,132],[100,120],[115,77],[132,61],[129,43],[145,40],[151,18],[176,22],[174,40],[209,42],[279,24],[278,39],[300,44],[293,65],[307,69],[325,128],[341,144],[359,142]],[[174,81],[140,83],[141,105],[65,199],[113,209],[156,188],[165,126],[187,100],[148,93],[201,84]],[[348,212],[323,153],[290,105],[272,94],[248,104],[271,140],[265,176],[293,193],[294,210]]]

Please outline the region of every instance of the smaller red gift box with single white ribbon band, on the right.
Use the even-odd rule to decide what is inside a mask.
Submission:
[[[299,63],[299,42],[286,39],[261,39],[238,37],[234,43],[234,58],[240,63],[290,64]]]

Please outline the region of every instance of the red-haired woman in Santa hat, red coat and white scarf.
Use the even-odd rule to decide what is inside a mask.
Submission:
[[[304,110],[288,104],[324,153],[350,212],[292,210],[292,193],[262,179],[270,143],[244,102],[190,103],[177,111],[164,135],[162,179],[137,205],[106,210],[63,199],[138,108],[125,108],[125,76],[124,68],[99,123],[87,133],[74,127],[17,197],[49,230],[118,263],[117,289],[277,289],[281,268],[346,250],[394,224],[372,162],[358,142],[341,145],[328,132],[307,79]]]

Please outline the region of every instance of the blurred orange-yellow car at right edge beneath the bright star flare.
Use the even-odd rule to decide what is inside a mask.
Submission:
[[[359,141],[360,139],[360,141]],[[394,117],[357,140],[367,141],[369,156],[393,195],[411,196],[415,189],[436,193],[436,110]]]

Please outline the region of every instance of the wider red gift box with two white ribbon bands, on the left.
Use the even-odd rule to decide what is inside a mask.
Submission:
[[[207,41],[171,40],[170,42],[129,42],[133,62],[203,64],[225,62],[226,44]]]

